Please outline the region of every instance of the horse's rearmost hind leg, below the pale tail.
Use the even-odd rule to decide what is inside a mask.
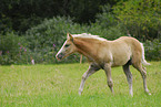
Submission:
[[[140,72],[142,78],[143,78],[144,92],[147,94],[151,95],[150,92],[149,92],[149,89],[148,89],[148,87],[147,87],[147,72],[145,72],[145,67],[142,67],[142,64],[141,63],[139,63],[139,64],[132,64],[132,65],[133,65],[133,67],[135,67]]]

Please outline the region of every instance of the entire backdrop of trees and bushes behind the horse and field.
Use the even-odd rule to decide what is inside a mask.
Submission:
[[[0,64],[58,63],[67,32],[134,36],[161,60],[160,0],[1,0]],[[62,63],[79,62],[74,54]],[[85,58],[83,58],[85,61]],[[60,63],[60,62],[59,62]]]

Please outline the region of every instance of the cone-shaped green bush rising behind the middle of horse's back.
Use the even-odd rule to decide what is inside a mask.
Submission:
[[[115,15],[111,12],[110,4],[103,6],[102,10],[102,13],[97,14],[95,23],[91,23],[89,32],[101,35],[108,40],[114,40],[125,35],[122,24],[118,23]]]

